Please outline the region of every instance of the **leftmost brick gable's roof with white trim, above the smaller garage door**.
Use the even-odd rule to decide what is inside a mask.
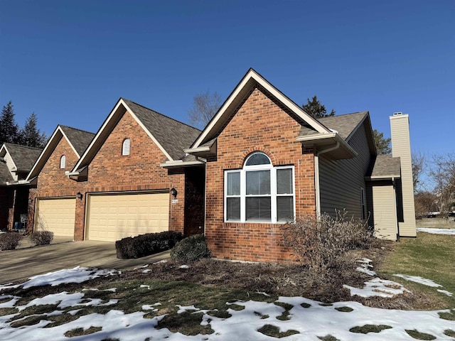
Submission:
[[[83,131],[76,128],[71,128],[70,126],[60,126],[58,125],[52,136],[48,141],[48,144],[45,145],[40,156],[33,164],[30,173],[28,173],[26,180],[29,181],[33,178],[36,178],[38,174],[43,169],[46,161],[55,150],[55,147],[58,145],[61,139],[65,138],[68,144],[71,146],[75,152],[77,158],[80,158],[80,154],[85,151],[90,141],[92,141],[95,134],[88,131]]]

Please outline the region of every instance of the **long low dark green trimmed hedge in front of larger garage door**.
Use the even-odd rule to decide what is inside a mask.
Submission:
[[[172,249],[181,239],[182,234],[175,231],[140,234],[137,237],[120,239],[115,242],[117,258],[132,259],[156,254]]]

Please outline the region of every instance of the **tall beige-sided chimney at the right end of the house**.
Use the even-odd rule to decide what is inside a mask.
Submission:
[[[416,237],[414,185],[412,180],[408,115],[390,117],[390,129],[392,131],[392,156],[399,156],[401,161],[402,212],[404,221],[399,222],[400,236]]]

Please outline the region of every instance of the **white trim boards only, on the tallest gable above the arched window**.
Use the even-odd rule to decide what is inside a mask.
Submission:
[[[235,100],[237,96],[239,96],[240,92],[243,90],[244,87],[247,86],[249,82],[254,80],[257,82],[259,85],[264,87],[267,92],[270,92],[272,96],[277,98],[279,102],[282,102],[284,106],[288,107],[292,112],[294,112],[298,117],[301,117],[304,121],[306,121],[312,128],[314,128],[316,131],[319,133],[331,133],[329,129],[327,129],[323,124],[319,123],[316,119],[311,117],[309,114],[306,114],[304,109],[299,107],[297,104],[291,101],[289,97],[285,96],[282,92],[280,92],[276,87],[274,87],[272,84],[267,82],[259,73],[257,73],[255,70],[250,69],[245,77],[242,78],[240,83],[235,87],[235,90],[230,94],[228,99],[226,99],[225,103],[223,106],[218,110],[217,114],[215,114],[215,117],[209,122],[209,124],[205,127],[203,132],[200,134],[196,142],[191,146],[191,149],[193,148],[198,148],[200,144],[203,143],[204,139],[208,136],[208,134],[214,129],[216,126],[217,122],[223,117],[225,112],[228,110],[232,102]]]

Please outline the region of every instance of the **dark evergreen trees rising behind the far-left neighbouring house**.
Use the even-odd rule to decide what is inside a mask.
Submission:
[[[14,115],[13,103],[9,101],[1,110],[0,146],[4,143],[9,143],[44,148],[48,142],[48,137],[36,126],[38,121],[36,114],[32,112],[23,127],[18,126]]]

